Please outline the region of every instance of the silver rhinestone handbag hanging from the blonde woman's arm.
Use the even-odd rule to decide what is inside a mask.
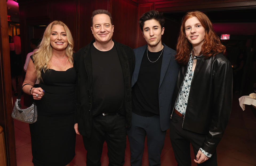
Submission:
[[[24,84],[24,85],[30,85],[30,84]],[[33,102],[33,104],[31,106],[29,106],[25,109],[21,109],[20,101],[21,101],[22,93],[23,92],[21,90],[18,98],[16,99],[16,101],[14,103],[13,112],[11,113],[11,117],[13,119],[16,119],[21,122],[35,123],[37,121],[37,105],[35,105],[35,102]]]

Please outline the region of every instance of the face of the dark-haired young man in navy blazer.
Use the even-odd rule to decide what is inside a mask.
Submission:
[[[159,22],[155,19],[146,20],[143,26],[142,35],[149,47],[161,45],[161,38],[165,28],[161,28]]]

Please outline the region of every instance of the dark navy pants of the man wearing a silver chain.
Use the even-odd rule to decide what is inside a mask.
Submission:
[[[149,165],[160,165],[166,131],[162,131],[160,128],[159,116],[143,117],[132,113],[131,117],[131,128],[127,131],[131,151],[131,166],[141,166],[146,135]]]

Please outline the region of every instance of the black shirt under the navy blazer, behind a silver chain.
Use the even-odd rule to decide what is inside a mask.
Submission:
[[[144,117],[159,115],[158,89],[163,59],[163,53],[159,57],[161,52],[162,50],[159,52],[148,51],[147,57],[146,50],[143,55],[138,80],[132,90],[132,111],[137,115]],[[157,61],[152,63],[149,59]]]

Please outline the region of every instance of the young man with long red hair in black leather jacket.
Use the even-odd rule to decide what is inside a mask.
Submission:
[[[179,166],[217,165],[216,147],[229,120],[232,68],[225,46],[200,11],[182,19],[175,59],[181,65],[174,89],[170,139]]]

